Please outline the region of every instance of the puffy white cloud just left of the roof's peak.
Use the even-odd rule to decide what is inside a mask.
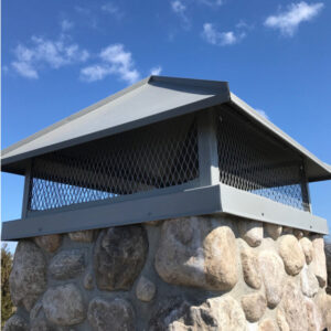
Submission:
[[[132,54],[126,52],[122,44],[113,44],[99,53],[100,63],[81,70],[81,78],[95,82],[108,75],[116,75],[129,84],[136,83],[140,74],[135,68]]]

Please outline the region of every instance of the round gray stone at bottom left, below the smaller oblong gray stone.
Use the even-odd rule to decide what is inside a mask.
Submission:
[[[73,325],[85,320],[84,300],[73,284],[47,289],[42,302],[47,320],[57,325]]]

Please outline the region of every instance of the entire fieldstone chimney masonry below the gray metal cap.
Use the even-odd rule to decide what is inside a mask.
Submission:
[[[183,217],[20,241],[6,331],[331,330],[321,236]]]

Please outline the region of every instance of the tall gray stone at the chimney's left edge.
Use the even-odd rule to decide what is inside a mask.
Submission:
[[[23,305],[30,311],[46,289],[46,261],[32,242],[19,242],[9,281],[14,306]]]

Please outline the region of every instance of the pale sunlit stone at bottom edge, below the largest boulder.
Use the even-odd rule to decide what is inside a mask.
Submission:
[[[213,299],[207,299],[206,305],[217,321],[218,328],[215,330],[247,330],[245,313],[242,310],[241,305],[232,297],[222,296]]]

